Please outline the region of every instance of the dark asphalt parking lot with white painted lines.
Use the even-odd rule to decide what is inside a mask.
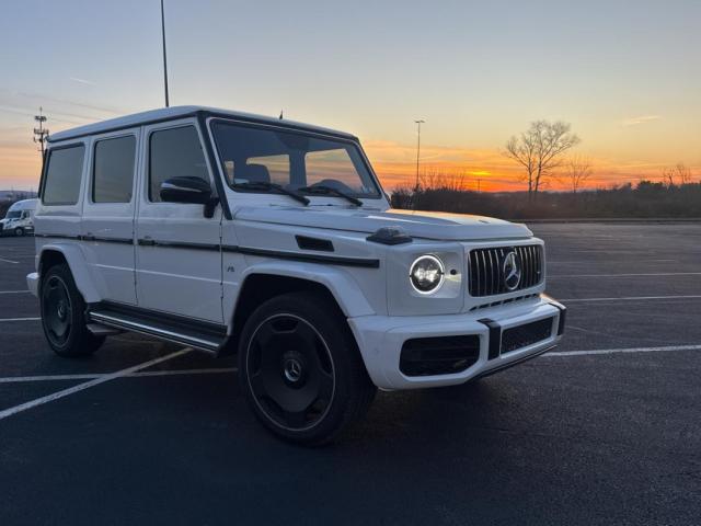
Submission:
[[[379,393],[321,449],[256,423],[234,358],[134,334],[55,356],[34,241],[0,239],[0,524],[701,523],[701,224],[532,229],[563,344]]]

